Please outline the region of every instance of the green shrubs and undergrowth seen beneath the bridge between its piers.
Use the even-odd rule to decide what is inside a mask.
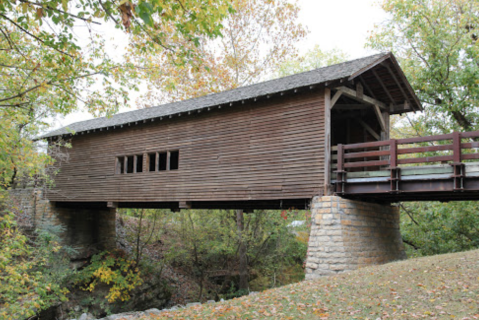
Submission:
[[[170,258],[174,265],[191,270],[200,286],[217,272],[226,275],[217,294],[239,294],[231,289],[231,283],[238,288],[234,275],[239,272],[241,244],[246,247],[253,290],[300,281],[307,250],[303,233],[309,234],[309,226],[306,223],[292,227],[291,223],[305,219],[306,214],[299,211],[255,210],[244,214],[244,229],[239,238],[234,211],[185,210],[174,215],[168,228],[167,239],[173,248]],[[299,266],[301,272],[294,266]]]

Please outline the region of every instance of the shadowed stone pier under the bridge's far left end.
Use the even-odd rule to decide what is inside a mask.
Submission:
[[[116,209],[57,207],[35,189],[10,190],[10,200],[20,227],[56,230],[62,245],[76,250],[74,260],[116,247]]]

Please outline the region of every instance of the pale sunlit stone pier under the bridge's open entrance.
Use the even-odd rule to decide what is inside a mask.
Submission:
[[[397,207],[325,196],[311,215],[306,280],[406,258]]]

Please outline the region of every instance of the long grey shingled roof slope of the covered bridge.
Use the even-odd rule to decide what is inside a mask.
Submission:
[[[39,137],[39,139],[67,135],[71,134],[72,132],[81,133],[97,129],[117,127],[128,123],[182,114],[189,111],[235,103],[238,101],[259,98],[289,90],[299,89],[302,87],[344,79],[376,65],[390,55],[390,53],[376,54],[373,56],[315,69],[280,79],[209,94],[199,98],[168,103],[151,108],[122,112],[110,118],[101,117],[75,122],[63,128],[49,132]]]

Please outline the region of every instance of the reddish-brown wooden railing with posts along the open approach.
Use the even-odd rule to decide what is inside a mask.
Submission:
[[[455,190],[461,190],[464,161],[479,160],[479,131],[338,144],[332,148],[332,170],[336,173],[336,191],[341,193],[348,172],[391,171],[391,192],[398,191],[401,166],[449,163],[454,167]],[[463,140],[467,140],[464,141]],[[468,151],[469,150],[469,151]]]

